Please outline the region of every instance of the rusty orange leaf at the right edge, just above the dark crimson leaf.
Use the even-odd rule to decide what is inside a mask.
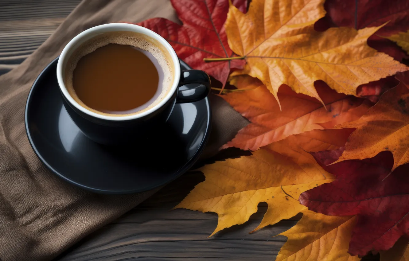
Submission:
[[[362,160],[381,151],[393,153],[392,171],[409,162],[409,72],[399,74],[397,79],[399,85],[385,92],[360,119],[337,126],[357,128],[337,162]]]

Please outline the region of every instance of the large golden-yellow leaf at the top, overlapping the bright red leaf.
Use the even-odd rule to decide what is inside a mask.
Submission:
[[[253,0],[243,14],[230,4],[226,34],[231,50],[245,58],[244,70],[274,94],[282,84],[322,101],[314,82],[325,81],[337,92],[356,95],[358,85],[376,81],[406,65],[366,44],[380,27],[347,27],[315,32],[324,16],[324,0]]]

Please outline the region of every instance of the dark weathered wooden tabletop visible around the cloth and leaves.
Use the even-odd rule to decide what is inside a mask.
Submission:
[[[0,74],[34,52],[79,2],[0,0]],[[273,260],[286,238],[272,236],[295,225],[297,217],[248,234],[267,210],[267,204],[260,203],[247,223],[209,238],[217,225],[217,214],[171,210],[203,180],[200,172],[184,174],[56,260]]]

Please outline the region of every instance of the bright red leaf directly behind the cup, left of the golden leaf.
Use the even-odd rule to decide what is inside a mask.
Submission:
[[[244,60],[205,63],[203,58],[236,56],[231,51],[224,23],[229,11],[227,0],[171,0],[183,25],[164,18],[152,18],[141,25],[160,34],[175,49],[178,57],[192,68],[203,70],[225,86],[232,69],[242,69]],[[247,0],[233,0],[245,12]]]

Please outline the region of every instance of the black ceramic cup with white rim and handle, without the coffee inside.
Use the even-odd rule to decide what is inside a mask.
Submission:
[[[104,115],[89,110],[77,102],[65,86],[65,69],[73,52],[85,41],[107,32],[135,32],[150,38],[169,57],[173,68],[173,83],[155,105],[132,115]],[[75,36],[63,49],[57,64],[58,85],[68,114],[81,132],[94,142],[106,145],[128,144],[144,139],[147,133],[157,132],[166,124],[175,103],[204,99],[210,92],[210,78],[200,70],[180,70],[179,58],[171,45],[155,32],[138,25],[112,23],[99,25]],[[160,132],[159,132],[160,133]]]

